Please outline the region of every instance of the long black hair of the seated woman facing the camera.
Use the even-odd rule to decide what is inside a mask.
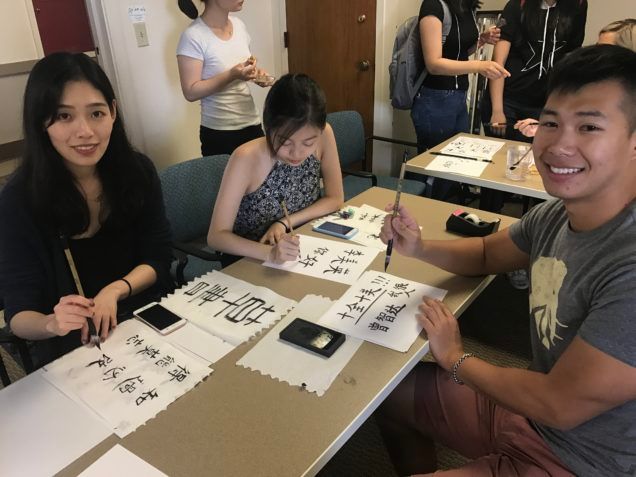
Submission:
[[[41,59],[31,70],[24,92],[24,153],[17,171],[38,219],[69,236],[88,228],[88,205],[64,158],[53,147],[47,128],[55,121],[66,85],[73,81],[90,83],[113,108],[113,87],[88,56],[53,53]],[[130,221],[143,206],[152,173],[128,141],[120,113],[116,114],[108,147],[96,169],[103,204],[107,204],[110,216],[117,222]]]

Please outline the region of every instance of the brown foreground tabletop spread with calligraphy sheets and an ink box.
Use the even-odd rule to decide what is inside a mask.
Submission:
[[[384,206],[394,192],[374,188],[350,205]],[[419,219],[426,238],[449,239],[445,222],[456,205],[409,194],[402,203]],[[467,209],[473,211],[473,209]],[[485,220],[497,216],[479,211]],[[516,219],[501,217],[501,227]],[[313,234],[308,225],[299,229]],[[382,270],[384,254],[372,264]],[[263,267],[243,259],[224,270],[300,300],[308,293],[339,298],[346,285]],[[461,314],[491,277],[459,277],[394,254],[389,273],[448,290],[445,302]],[[170,476],[300,476],[316,474],[428,352],[421,336],[407,353],[365,342],[322,397],[236,366],[258,340],[215,363],[194,390],[124,439],[111,435],[65,468],[77,475],[116,443]],[[51,444],[55,445],[52,436]]]

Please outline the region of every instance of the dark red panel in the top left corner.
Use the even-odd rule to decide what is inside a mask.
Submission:
[[[95,49],[84,0],[33,0],[33,10],[45,55]]]

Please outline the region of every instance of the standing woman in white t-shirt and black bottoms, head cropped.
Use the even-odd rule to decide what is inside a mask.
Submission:
[[[231,154],[241,144],[263,136],[261,119],[247,81],[269,86],[273,78],[256,67],[245,24],[230,12],[243,0],[179,0],[194,21],[181,34],[177,62],[181,89],[188,101],[201,101],[201,154]]]

